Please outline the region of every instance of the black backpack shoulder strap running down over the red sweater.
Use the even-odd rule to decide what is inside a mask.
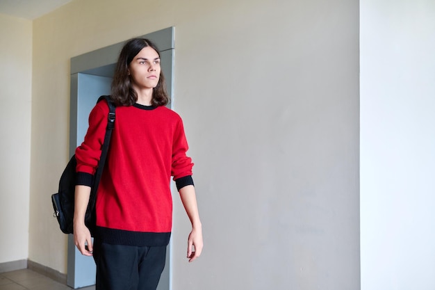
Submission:
[[[88,208],[92,209],[92,211],[95,211],[95,200],[97,198],[97,189],[98,189],[99,181],[101,179],[101,175],[103,174],[104,164],[106,163],[106,157],[107,157],[108,147],[110,144],[110,137],[112,136],[112,130],[115,127],[115,104],[113,104],[113,102],[110,100],[110,96],[99,97],[97,103],[100,102],[102,99],[106,99],[109,107],[109,113],[108,113],[108,120],[107,120],[107,127],[106,127],[106,135],[104,136],[104,143],[103,143],[103,147],[101,148],[101,156],[99,159],[97,172],[95,172],[94,183],[90,191]]]

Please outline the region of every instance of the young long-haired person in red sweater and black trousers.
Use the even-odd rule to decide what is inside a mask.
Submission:
[[[160,53],[152,42],[126,42],[110,99],[117,106],[115,129],[97,192],[93,244],[84,220],[106,132],[105,101],[92,109],[88,132],[76,148],[74,242],[83,255],[95,259],[97,290],[155,290],[172,229],[170,177],[192,223],[188,261],[201,255],[203,241],[183,122],[165,106]]]

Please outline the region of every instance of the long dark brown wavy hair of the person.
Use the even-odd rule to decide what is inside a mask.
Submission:
[[[112,81],[111,99],[117,106],[132,106],[138,101],[138,94],[131,85],[129,64],[144,47],[151,47],[160,57],[160,51],[158,51],[156,45],[145,38],[133,38],[128,40],[124,47],[122,47]],[[151,105],[165,106],[168,102],[169,97],[167,97],[166,92],[165,76],[163,76],[163,73],[160,72],[160,78],[158,79],[157,86],[153,89]]]

